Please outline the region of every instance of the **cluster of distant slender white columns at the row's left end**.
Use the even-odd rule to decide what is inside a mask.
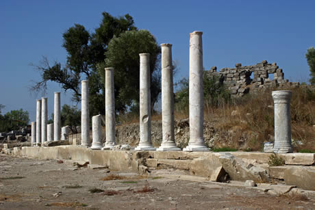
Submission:
[[[55,92],[54,95],[53,124],[47,124],[47,98],[36,100],[36,122],[31,122],[31,144],[34,146],[61,138],[60,92]]]

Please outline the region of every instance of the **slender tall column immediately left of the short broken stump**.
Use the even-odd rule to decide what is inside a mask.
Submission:
[[[90,146],[90,113],[88,109],[88,80],[81,81],[81,145]]]

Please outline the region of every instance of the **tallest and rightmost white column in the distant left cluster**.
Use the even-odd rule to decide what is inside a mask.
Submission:
[[[53,140],[61,139],[61,114],[60,114],[60,92],[55,92],[55,101],[53,106]]]

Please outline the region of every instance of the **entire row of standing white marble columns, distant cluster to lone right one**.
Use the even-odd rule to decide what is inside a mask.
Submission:
[[[202,32],[190,33],[189,55],[189,124],[190,139],[184,151],[209,151],[203,138],[203,45]],[[151,142],[151,70],[150,55],[140,53],[140,142],[135,150],[180,150],[175,144],[172,44],[162,47],[162,144]],[[90,146],[88,81],[81,81],[81,146]],[[273,92],[275,101],[275,153],[292,152],[290,129],[290,91]],[[36,143],[47,141],[47,98],[37,101]],[[48,140],[60,139],[60,92],[55,92],[54,127],[49,124]],[[106,142],[102,145],[101,116],[92,117],[92,149],[107,150],[115,146],[114,68],[105,68]],[[40,129],[41,128],[41,129]],[[63,133],[65,133],[64,131]],[[40,136],[42,135],[41,139]],[[32,136],[32,142],[35,137]]]

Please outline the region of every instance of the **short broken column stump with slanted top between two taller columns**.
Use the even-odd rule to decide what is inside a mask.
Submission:
[[[107,129],[107,128],[106,128]],[[92,117],[92,150],[102,148],[101,115]]]

